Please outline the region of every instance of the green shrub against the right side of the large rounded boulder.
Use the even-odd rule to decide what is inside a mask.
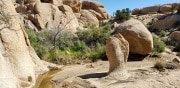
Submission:
[[[153,54],[161,53],[165,50],[165,43],[156,35],[153,35]]]

